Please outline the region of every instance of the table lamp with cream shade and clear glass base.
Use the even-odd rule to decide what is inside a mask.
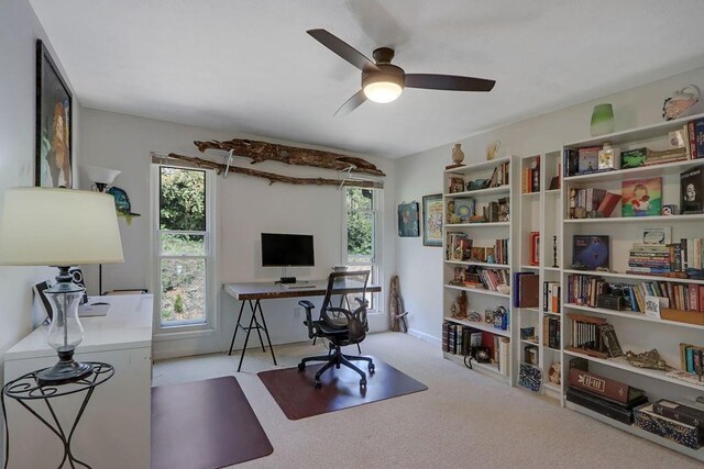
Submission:
[[[92,367],[76,361],[84,338],[78,302],[84,288],[69,267],[122,263],[120,228],[111,196],[70,189],[11,188],[0,214],[0,265],[58,267],[57,283],[45,290],[53,317],[48,344],[58,362],[38,373],[38,383],[64,384],[89,376]]]

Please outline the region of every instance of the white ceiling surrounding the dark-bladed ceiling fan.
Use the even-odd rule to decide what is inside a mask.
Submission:
[[[30,1],[84,107],[392,158],[704,65],[701,0]],[[333,119],[361,74],[315,27],[497,83]]]

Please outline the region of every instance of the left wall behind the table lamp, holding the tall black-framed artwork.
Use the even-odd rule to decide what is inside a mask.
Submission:
[[[70,77],[47,42],[26,0],[0,2],[0,215],[4,191],[34,186],[35,42],[42,38],[70,87]],[[74,143],[78,134],[78,100],[74,97]],[[74,165],[78,161],[74,146]],[[74,167],[75,169],[75,167]],[[74,175],[76,171],[74,170]],[[52,278],[56,269],[0,266],[0,382],[4,376],[2,355],[40,321],[33,308],[31,287]],[[0,447],[3,433],[0,432]],[[0,462],[3,455],[0,454]]]

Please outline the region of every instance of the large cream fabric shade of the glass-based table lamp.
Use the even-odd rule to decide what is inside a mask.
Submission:
[[[0,265],[122,263],[112,196],[70,189],[11,188],[0,219]]]

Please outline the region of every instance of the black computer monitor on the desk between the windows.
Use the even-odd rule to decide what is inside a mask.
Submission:
[[[312,267],[312,235],[262,233],[263,267]],[[282,281],[296,281],[282,277]]]

